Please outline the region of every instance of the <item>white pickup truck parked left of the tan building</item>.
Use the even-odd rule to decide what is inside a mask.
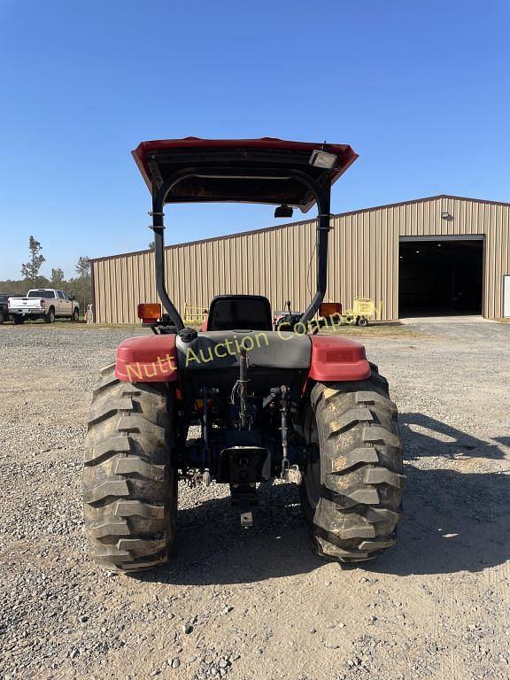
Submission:
[[[26,298],[9,298],[9,313],[14,323],[27,319],[43,319],[53,323],[57,317],[67,316],[73,321],[80,319],[80,305],[64,290],[39,288],[28,290]]]

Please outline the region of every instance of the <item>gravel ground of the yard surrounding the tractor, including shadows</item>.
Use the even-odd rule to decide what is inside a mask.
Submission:
[[[0,677],[507,680],[510,325],[406,328],[367,336],[406,445],[395,548],[342,569],[295,487],[263,486],[241,529],[222,486],[182,486],[173,560],[128,577],[85,553],[81,455],[133,331],[0,327]]]

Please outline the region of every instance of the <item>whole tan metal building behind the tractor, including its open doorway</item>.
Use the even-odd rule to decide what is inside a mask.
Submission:
[[[325,300],[372,298],[377,318],[409,314],[510,316],[510,204],[434,196],[342,213],[332,221]],[[168,229],[167,234],[171,233]],[[273,309],[304,310],[315,285],[315,220],[166,248],[178,309],[220,293],[259,293]],[[92,259],[95,321],[135,322],[157,302],[151,251]]]

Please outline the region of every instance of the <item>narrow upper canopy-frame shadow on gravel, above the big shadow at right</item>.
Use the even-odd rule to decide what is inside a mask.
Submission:
[[[423,413],[399,413],[398,426],[407,460],[423,456],[503,459],[505,452],[496,442],[510,445],[510,437],[496,437],[486,442]]]

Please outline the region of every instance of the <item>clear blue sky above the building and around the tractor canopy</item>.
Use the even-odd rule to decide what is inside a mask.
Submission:
[[[335,212],[510,200],[509,18],[505,0],[0,0],[0,279],[30,234],[43,274],[146,248],[129,151],[147,139],[350,143]],[[167,243],[274,223],[267,206],[166,215]]]

